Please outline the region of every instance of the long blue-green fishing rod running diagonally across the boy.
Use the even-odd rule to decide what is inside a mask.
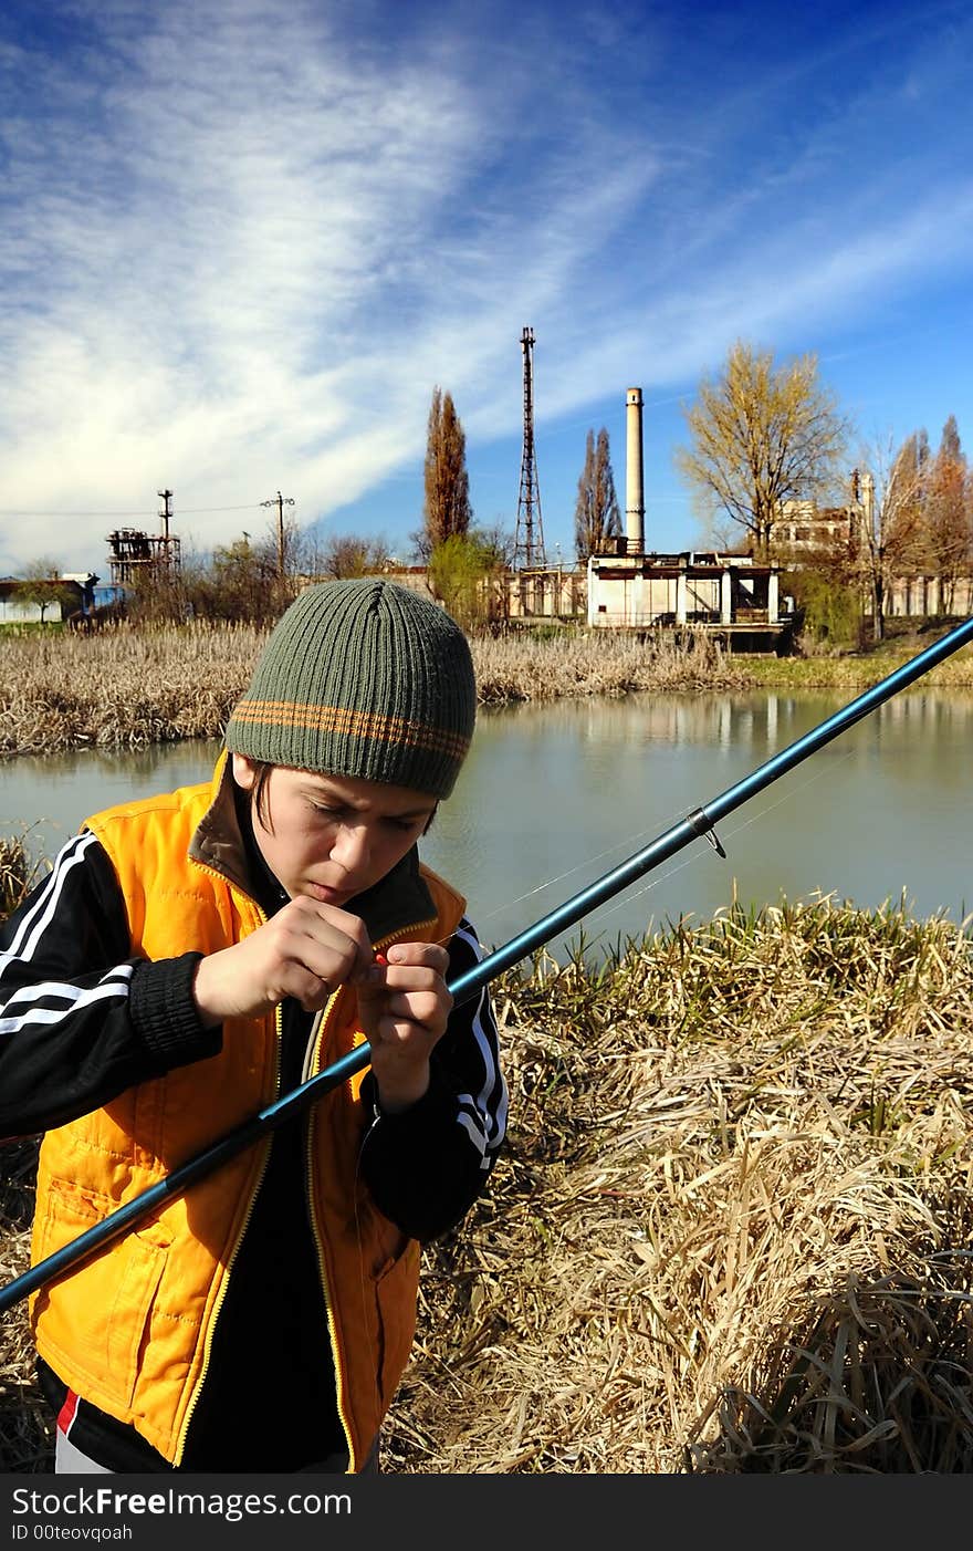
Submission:
[[[456,980],[448,983],[448,990],[452,994],[454,1005],[462,1005],[471,997],[477,996],[483,986],[496,980],[504,969],[510,969],[513,965],[519,963],[536,948],[542,948],[544,943],[550,941],[558,932],[567,931],[567,927],[575,926],[589,910],[597,909],[610,900],[614,895],[620,893],[635,879],[643,878],[652,867],[658,867],[660,862],[669,859],[677,851],[683,850],[694,839],[705,838],[713,845],[714,851],[725,858],[725,850],[716,834],[716,825],[720,819],[725,819],[728,813],[733,813],[744,802],[756,797],[758,793],[764,791],[772,782],[778,780],[787,771],[793,769],[803,760],[817,754],[818,749],[830,743],[848,727],[861,721],[869,712],[875,710],[892,695],[900,690],[908,689],[916,679],[928,673],[945,658],[959,651],[973,642],[973,617],[964,620],[948,634],[940,636],[939,641],[927,647],[917,656],[911,658],[902,667],[889,673],[872,689],[865,690],[857,700],[852,700],[843,710],[837,710],[826,721],[821,721],[810,732],[806,732],[795,743],[790,743],[779,754],[775,754],[764,765],[759,765],[750,776],[745,776],[736,785],[728,786],[727,791],[720,793],[719,797],[713,797],[711,802],[705,803],[702,808],[694,808],[685,819],[674,824],[663,834],[651,841],[627,861],[620,862],[610,872],[604,873],[595,883],[589,884],[587,889],[581,889],[579,893],[572,895],[564,904],[558,906],[542,920],[528,926],[527,931],[521,932],[517,937],[511,937],[508,943],[502,948],[494,949],[494,952],[483,957],[473,969],[465,974],[457,976]],[[260,1137],[268,1135],[285,1120],[293,1115],[302,1114],[325,1093],[330,1093],[341,1083],[346,1083],[355,1073],[364,1070],[369,1066],[372,1056],[372,1048],[367,1041],[356,1045],[333,1066],[327,1067],[324,1072],[318,1072],[316,1076],[302,1083],[299,1087],[291,1089],[284,1093],[266,1109],[259,1111],[249,1120],[243,1121],[234,1131],[229,1131],[212,1146],[206,1148],[205,1152],[197,1154],[197,1157],[189,1159],[175,1168],[166,1179],[152,1185],[149,1190],[132,1200],[118,1207],[113,1213],[96,1222],[93,1228],[79,1235],[71,1244],[65,1244],[60,1250],[56,1250],[46,1259],[33,1266],[29,1270],[23,1272],[14,1281],[8,1283],[6,1287],[0,1287],[0,1314],[11,1309],[28,1294],[45,1286],[48,1281],[54,1281],[62,1276],[70,1267],[81,1264],[82,1259],[88,1259],[95,1250],[119,1238],[129,1228],[141,1222],[156,1208],[163,1208],[166,1202],[172,1200],[175,1196],[181,1196],[191,1185],[198,1179],[203,1179],[212,1169],[226,1163],[243,1148],[251,1146],[259,1142]]]

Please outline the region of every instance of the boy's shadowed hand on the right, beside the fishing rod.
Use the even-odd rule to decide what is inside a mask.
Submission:
[[[452,1007],[448,968],[449,955],[437,943],[395,943],[387,962],[373,963],[358,980],[361,1027],[389,1114],[415,1104],[429,1087],[429,1056]]]

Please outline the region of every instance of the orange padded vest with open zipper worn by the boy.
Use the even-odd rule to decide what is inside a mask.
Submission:
[[[88,820],[116,869],[133,955],[215,952],[265,920],[245,887],[206,861],[206,855],[226,856],[218,816],[232,799],[225,765],[222,757],[212,783],[122,803]],[[460,895],[428,869],[420,873],[432,901],[429,915],[383,943],[443,941],[459,924]],[[355,993],[339,988],[318,1021],[308,1075],[363,1039]],[[46,1132],[37,1169],[34,1264],[273,1103],[277,1076],[279,1013],[232,1019],[223,1027],[218,1055],[141,1083],[104,1109]],[[359,1089],[361,1075],[347,1079],[304,1120],[311,1222],[350,1472],[364,1463],[409,1359],[420,1258],[418,1244],[376,1210],[358,1179],[361,1140],[372,1121]],[[265,1137],[31,1298],[34,1340],[45,1362],[74,1393],[132,1424],[175,1466],[268,1149]],[[242,1356],[260,1360],[259,1331],[253,1352]]]

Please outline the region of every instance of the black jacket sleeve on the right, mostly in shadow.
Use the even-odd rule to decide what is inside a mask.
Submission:
[[[482,957],[477,935],[463,920],[449,943],[448,983]],[[425,1098],[400,1114],[381,1112],[372,1073],[364,1087],[375,1120],[363,1145],[363,1176],[380,1211],[420,1242],[438,1238],[466,1214],[507,1132],[507,1083],[486,988],[452,1010],[429,1066]]]

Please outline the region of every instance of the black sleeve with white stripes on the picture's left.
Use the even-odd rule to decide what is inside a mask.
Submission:
[[[85,831],[0,926],[0,1135],[31,1135],[215,1055],[192,999],[198,954],[132,955],[125,904]]]

